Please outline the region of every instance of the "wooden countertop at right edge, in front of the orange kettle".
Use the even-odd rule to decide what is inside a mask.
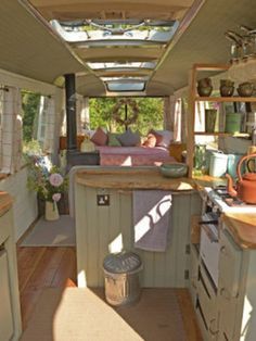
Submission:
[[[256,249],[256,213],[226,213],[221,218],[239,247]]]

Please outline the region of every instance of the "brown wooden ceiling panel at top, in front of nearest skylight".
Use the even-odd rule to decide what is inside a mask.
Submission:
[[[75,18],[164,18],[181,17],[193,0],[66,1],[31,0],[47,20]]]

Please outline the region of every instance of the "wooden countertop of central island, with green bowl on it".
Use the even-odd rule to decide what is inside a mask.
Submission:
[[[189,178],[167,178],[158,167],[88,168],[76,173],[76,181],[97,188],[118,189],[162,189],[171,191],[194,190],[194,181]]]

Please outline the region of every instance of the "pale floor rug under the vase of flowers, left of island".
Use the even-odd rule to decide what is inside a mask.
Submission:
[[[75,233],[75,220],[69,215],[60,215],[54,222],[41,217],[20,247],[74,247]]]

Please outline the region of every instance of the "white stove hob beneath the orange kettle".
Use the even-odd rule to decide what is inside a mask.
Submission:
[[[212,203],[213,211],[238,212],[238,213],[256,213],[255,204],[247,204],[238,198],[231,197],[226,186],[215,188],[205,187],[204,189],[207,201]]]

